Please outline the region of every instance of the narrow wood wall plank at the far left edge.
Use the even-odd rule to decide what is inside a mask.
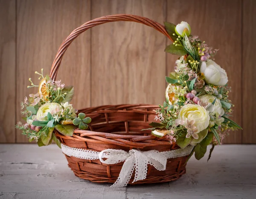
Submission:
[[[15,142],[15,0],[0,0],[0,143]]]

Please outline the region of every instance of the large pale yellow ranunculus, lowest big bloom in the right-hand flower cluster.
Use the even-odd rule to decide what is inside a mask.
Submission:
[[[185,121],[183,126],[186,126],[186,121],[194,121],[193,126],[196,127],[194,133],[199,133],[202,130],[206,129],[209,126],[210,116],[208,111],[196,104],[186,104],[181,107],[178,114],[178,119]]]

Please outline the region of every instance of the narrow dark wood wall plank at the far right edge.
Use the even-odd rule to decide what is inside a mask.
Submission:
[[[242,56],[242,96],[243,112],[242,126],[243,137],[242,143],[256,143],[256,134],[253,129],[256,128],[256,68],[254,61],[254,52],[256,46],[256,1],[243,1],[243,56]]]

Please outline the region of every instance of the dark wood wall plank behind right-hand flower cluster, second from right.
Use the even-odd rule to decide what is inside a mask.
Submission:
[[[198,35],[213,49],[220,49],[215,61],[227,71],[233,120],[241,124],[241,1],[240,0],[167,0],[167,21],[186,21],[192,35]],[[252,25],[252,24],[251,24]],[[167,56],[168,74],[176,57]],[[231,132],[225,143],[241,143],[241,131]]]

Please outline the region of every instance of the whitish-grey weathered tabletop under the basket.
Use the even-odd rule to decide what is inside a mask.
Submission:
[[[113,189],[76,177],[56,145],[0,144],[0,199],[256,199],[256,145],[206,156],[192,157],[175,182]]]

